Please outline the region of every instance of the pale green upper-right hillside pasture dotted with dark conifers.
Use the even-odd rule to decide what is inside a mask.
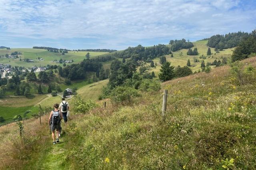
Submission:
[[[216,55],[214,55],[214,53],[215,53],[214,48],[210,48],[212,55],[210,58],[208,58],[208,56],[206,55],[207,50],[208,50],[208,47],[206,46],[207,40],[206,41],[196,41],[196,42],[193,42],[193,44],[194,44],[194,47],[192,47],[192,50],[195,47],[197,47],[199,55],[189,56],[189,55],[187,55],[188,49],[182,49],[182,50],[173,52],[173,56],[174,56],[173,58],[171,58],[171,55],[166,55],[165,56],[166,60],[171,62],[171,65],[173,65],[173,66],[178,66],[178,65],[186,66],[188,59],[190,59],[190,63],[191,63],[190,68],[194,72],[194,71],[198,71],[199,69],[201,69],[200,66],[201,66],[202,60],[204,60],[205,64],[207,62],[212,63],[215,59],[217,61],[218,60],[222,61],[221,57],[230,58],[231,54],[232,54],[232,49],[224,49],[224,51],[220,51],[220,53],[216,53]],[[200,55],[206,56],[206,59],[199,59]],[[213,58],[212,58],[212,56],[213,56]],[[194,61],[193,61],[194,57],[199,59],[200,62],[194,63]],[[156,68],[151,68],[150,70],[148,70],[148,72],[151,73],[152,71],[154,71],[155,75],[157,76],[159,74],[160,68],[161,68],[160,63],[159,63],[159,58],[156,58],[153,61],[154,61],[154,63],[157,63],[158,65],[156,66]],[[150,63],[148,63],[148,65],[150,65]],[[214,66],[212,66],[212,67],[214,67]]]

